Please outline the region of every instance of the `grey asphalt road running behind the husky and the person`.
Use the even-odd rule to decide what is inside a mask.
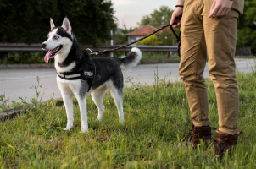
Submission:
[[[237,70],[244,73],[252,72],[255,70],[255,62],[255,59],[236,59]],[[124,73],[125,85],[153,85],[156,74],[158,74],[159,79],[175,82],[180,80],[178,68],[179,63],[141,64]],[[205,78],[209,78],[208,71],[208,66],[206,66]],[[40,95],[43,94],[42,101],[47,101],[52,97],[54,99],[61,97],[54,68],[0,69],[0,95],[5,95],[8,103],[11,101],[20,102],[19,97],[30,101],[36,96],[36,90],[31,87],[37,85],[37,76],[40,85],[42,85],[42,88],[39,88]]]

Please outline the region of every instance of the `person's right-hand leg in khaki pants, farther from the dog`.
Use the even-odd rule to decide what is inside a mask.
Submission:
[[[234,61],[237,19],[238,13],[235,10],[214,19],[208,19],[207,15],[203,16],[209,54],[209,75],[214,83],[218,104],[219,130],[226,134],[238,132],[239,98]]]

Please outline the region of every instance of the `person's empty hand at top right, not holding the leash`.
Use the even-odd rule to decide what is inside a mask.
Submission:
[[[231,0],[214,0],[209,11],[208,18],[212,19],[218,16],[224,16],[231,11],[233,1]]]

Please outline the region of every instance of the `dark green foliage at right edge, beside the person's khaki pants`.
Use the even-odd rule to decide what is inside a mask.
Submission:
[[[256,54],[256,0],[244,2],[244,14],[238,21],[237,48],[243,46],[251,46]]]

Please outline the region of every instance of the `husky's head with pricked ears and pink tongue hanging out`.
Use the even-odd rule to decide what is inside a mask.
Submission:
[[[59,27],[55,27],[53,19],[50,19],[50,25],[51,30],[48,33],[48,39],[42,43],[42,49],[48,51],[44,57],[46,63],[57,54],[66,52],[64,48],[70,49],[73,41],[69,19],[64,18],[62,26]]]

